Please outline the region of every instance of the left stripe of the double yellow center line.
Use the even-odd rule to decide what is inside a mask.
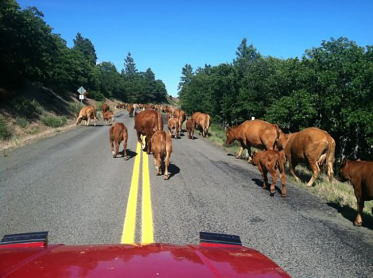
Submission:
[[[121,243],[134,244],[135,243],[135,228],[136,228],[136,207],[137,207],[137,193],[139,188],[140,176],[140,157],[141,144],[137,143],[137,156],[134,163],[134,172],[132,174],[131,187],[129,189],[126,215],[124,218],[123,232]]]

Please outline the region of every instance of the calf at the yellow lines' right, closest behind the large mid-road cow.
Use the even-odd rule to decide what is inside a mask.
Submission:
[[[151,137],[151,152],[154,157],[157,175],[162,175],[162,164],[164,162],[164,179],[168,180],[168,165],[170,164],[170,156],[172,153],[171,134],[165,131],[157,131],[153,134]]]

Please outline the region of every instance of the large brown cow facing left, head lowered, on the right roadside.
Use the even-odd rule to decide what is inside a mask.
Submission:
[[[277,124],[262,120],[247,120],[237,126],[227,127],[225,143],[230,145],[237,140],[241,148],[236,158],[241,158],[246,148],[249,155],[248,162],[251,162],[251,146],[265,150],[274,149],[279,134],[280,129]]]

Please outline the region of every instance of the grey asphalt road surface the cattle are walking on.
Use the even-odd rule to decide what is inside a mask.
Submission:
[[[136,156],[134,120],[121,114],[116,121],[128,128],[128,161],[121,154],[112,158],[102,121],[1,157],[0,237],[48,230],[51,243],[122,242],[138,156],[138,194],[131,208],[135,242],[142,241],[147,205],[152,231],[146,229],[155,242],[198,244],[199,231],[231,233],[294,277],[373,276],[371,229],[354,227],[325,201],[291,184],[288,198],[271,197],[258,185],[255,167],[200,137],[172,139],[168,181],[156,176],[148,157],[151,204],[144,205],[145,154]]]

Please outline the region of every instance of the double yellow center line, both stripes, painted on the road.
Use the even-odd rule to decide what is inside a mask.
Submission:
[[[144,138],[143,138],[144,141]],[[141,203],[141,243],[153,243],[153,216],[151,211],[149,160],[147,154],[143,154],[141,144],[137,143],[137,156],[134,163],[131,187],[129,189],[126,215],[124,218],[121,243],[134,244],[136,230],[137,196],[139,191],[140,159],[142,160],[142,203]]]

